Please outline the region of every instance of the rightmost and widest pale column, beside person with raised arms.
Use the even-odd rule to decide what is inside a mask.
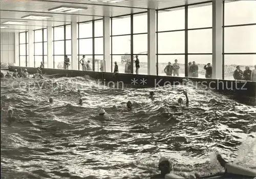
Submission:
[[[212,1],[212,78],[222,79],[222,1]]]

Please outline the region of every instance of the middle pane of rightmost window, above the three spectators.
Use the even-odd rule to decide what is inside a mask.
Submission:
[[[256,26],[226,27],[225,53],[256,53]]]

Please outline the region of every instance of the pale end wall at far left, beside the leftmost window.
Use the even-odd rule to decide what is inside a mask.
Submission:
[[[2,63],[13,64],[15,61],[15,35],[14,32],[1,32],[0,59]]]

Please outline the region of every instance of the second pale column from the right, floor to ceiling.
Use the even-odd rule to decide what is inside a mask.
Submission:
[[[147,74],[156,75],[156,10],[147,10]]]

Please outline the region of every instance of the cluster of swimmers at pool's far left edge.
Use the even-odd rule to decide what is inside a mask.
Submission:
[[[1,72],[1,78],[30,78],[30,75],[28,73],[28,70],[25,69],[24,71],[19,68],[18,70],[15,69],[13,74],[11,75],[10,72],[7,72],[6,75],[4,75],[2,72]],[[42,71],[39,67],[37,67],[37,71],[35,74],[33,74],[33,77],[32,78],[40,78],[42,79]]]

